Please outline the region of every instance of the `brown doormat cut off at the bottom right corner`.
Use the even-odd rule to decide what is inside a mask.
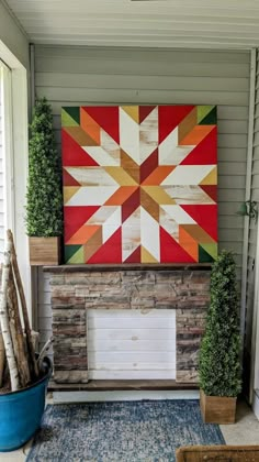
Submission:
[[[259,462],[259,446],[190,446],[176,451],[177,462]]]

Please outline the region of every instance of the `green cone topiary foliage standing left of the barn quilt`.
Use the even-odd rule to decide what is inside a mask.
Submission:
[[[29,143],[26,228],[34,237],[63,234],[61,163],[46,98],[36,101]]]

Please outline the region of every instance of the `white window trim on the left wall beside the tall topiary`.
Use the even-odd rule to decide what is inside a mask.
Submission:
[[[11,110],[7,114],[5,142],[10,154],[7,165],[5,183],[9,185],[10,197],[7,207],[12,207],[9,226],[13,231],[19,267],[23,282],[29,316],[32,322],[32,275],[29,258],[29,239],[25,230],[26,180],[29,169],[29,105],[27,105],[27,72],[16,57],[0,41],[0,57],[10,68],[11,84],[7,91],[11,97]],[[8,127],[7,127],[8,125]],[[8,142],[9,138],[9,142]],[[8,193],[7,193],[8,194]]]

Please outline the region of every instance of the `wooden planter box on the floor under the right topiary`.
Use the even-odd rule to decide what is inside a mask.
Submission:
[[[200,406],[205,424],[235,424],[237,398],[206,396],[200,391]]]

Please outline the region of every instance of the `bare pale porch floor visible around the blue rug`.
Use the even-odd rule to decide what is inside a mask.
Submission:
[[[52,403],[52,398],[48,398]],[[259,421],[245,402],[237,405],[235,425],[222,425],[222,433],[226,444],[259,444]],[[24,462],[30,451],[31,441],[18,451],[0,454],[1,462]]]

